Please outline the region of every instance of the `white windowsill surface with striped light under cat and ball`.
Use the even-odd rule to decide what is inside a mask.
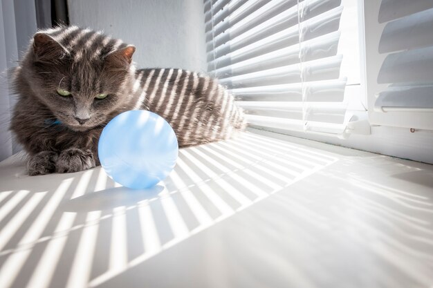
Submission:
[[[0,164],[0,287],[432,287],[433,166],[250,129],[149,191]]]

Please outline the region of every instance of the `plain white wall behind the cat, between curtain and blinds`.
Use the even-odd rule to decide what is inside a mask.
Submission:
[[[136,46],[138,67],[206,72],[202,0],[68,0],[71,24]]]

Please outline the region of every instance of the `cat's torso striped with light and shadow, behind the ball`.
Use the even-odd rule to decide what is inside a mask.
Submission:
[[[180,146],[226,139],[234,129],[245,125],[233,98],[215,79],[173,68],[136,71],[136,75],[140,73],[147,97],[136,97],[135,107],[164,117],[176,132]],[[149,85],[145,87],[148,77]]]

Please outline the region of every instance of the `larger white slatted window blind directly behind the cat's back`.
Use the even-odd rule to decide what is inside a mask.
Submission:
[[[205,0],[208,70],[250,125],[347,132],[353,115],[347,108],[359,97],[360,80],[358,50],[350,49],[358,45],[351,43],[357,11],[346,2],[353,6],[342,0]]]

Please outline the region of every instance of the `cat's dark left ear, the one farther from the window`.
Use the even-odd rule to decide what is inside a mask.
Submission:
[[[55,61],[68,55],[66,48],[44,33],[36,33],[33,37],[33,51],[37,61]]]

